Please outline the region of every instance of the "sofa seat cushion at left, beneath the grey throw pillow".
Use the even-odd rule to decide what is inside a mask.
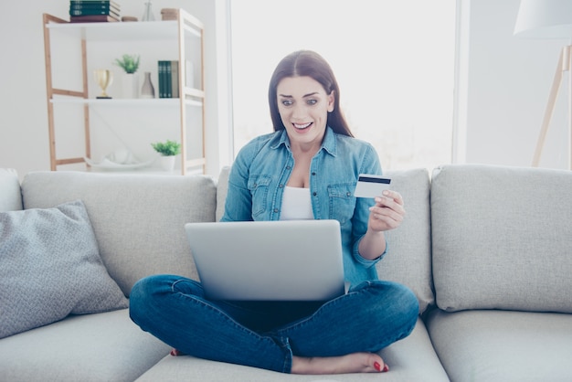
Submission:
[[[128,309],[72,315],[0,341],[0,380],[133,381],[170,351]]]

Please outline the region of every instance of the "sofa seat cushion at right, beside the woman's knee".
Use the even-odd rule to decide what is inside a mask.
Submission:
[[[453,381],[568,381],[572,376],[571,314],[436,310],[427,327]]]

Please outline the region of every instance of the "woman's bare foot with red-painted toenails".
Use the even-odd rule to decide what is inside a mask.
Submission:
[[[312,358],[294,355],[291,374],[378,373],[388,370],[383,359],[374,353]]]

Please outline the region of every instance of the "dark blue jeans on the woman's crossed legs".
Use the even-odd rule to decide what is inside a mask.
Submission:
[[[208,301],[201,284],[157,275],[133,285],[132,321],[199,358],[290,373],[292,355],[377,352],[415,327],[407,287],[365,281],[329,302]]]

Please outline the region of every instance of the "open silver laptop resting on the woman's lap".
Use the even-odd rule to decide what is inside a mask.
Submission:
[[[187,223],[208,299],[328,301],[345,292],[337,220]]]

